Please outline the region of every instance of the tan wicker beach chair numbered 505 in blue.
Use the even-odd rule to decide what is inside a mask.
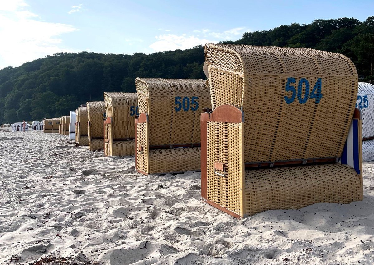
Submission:
[[[137,78],[135,169],[139,173],[200,170],[200,113],[211,105],[202,79]]]

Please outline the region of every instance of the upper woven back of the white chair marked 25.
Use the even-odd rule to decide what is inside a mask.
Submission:
[[[358,83],[356,108],[361,110],[362,138],[374,136],[374,85]]]

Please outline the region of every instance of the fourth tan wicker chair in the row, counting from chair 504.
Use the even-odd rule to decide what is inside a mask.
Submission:
[[[104,149],[104,101],[87,102],[88,113],[88,149],[90,151]]]

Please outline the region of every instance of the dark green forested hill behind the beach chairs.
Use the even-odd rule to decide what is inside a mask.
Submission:
[[[374,16],[318,19],[246,32],[231,44],[310,47],[342,53],[361,82],[374,82]],[[203,47],[153,54],[57,53],[0,70],[0,123],[68,115],[104,92],[135,92],[136,77],[203,78]]]

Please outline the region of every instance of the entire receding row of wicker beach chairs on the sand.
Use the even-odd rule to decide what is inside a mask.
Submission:
[[[237,218],[362,200],[374,86],[358,82],[350,59],[206,44],[204,72],[207,81],[137,78],[137,93],[105,92],[104,101],[46,119],[44,132],[62,124],[92,151],[135,155],[142,174],[201,170],[202,200]],[[365,159],[374,160],[372,149]]]

